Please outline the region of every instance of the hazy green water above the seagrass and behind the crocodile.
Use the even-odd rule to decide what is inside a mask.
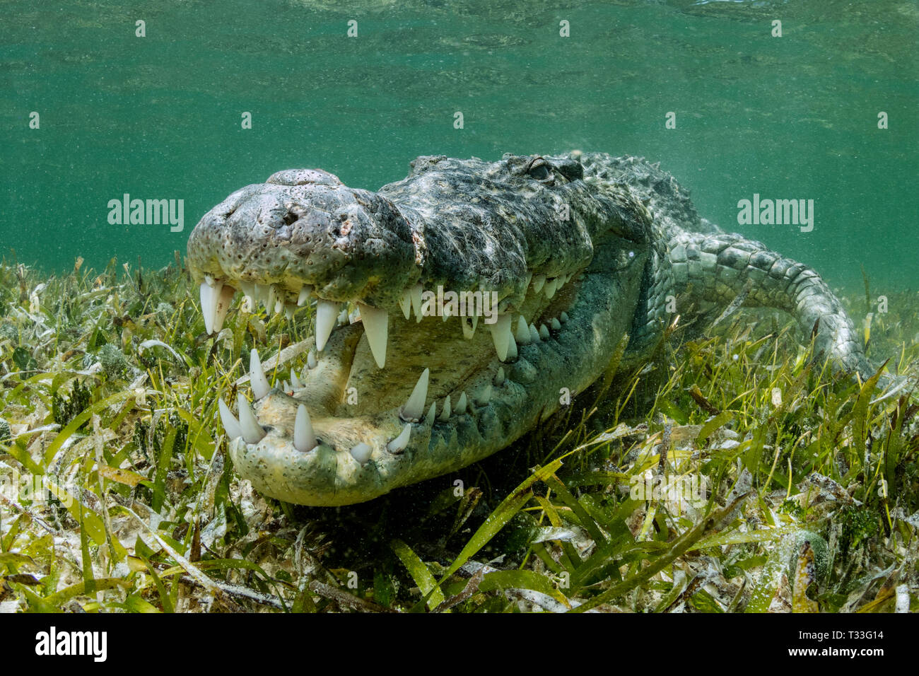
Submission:
[[[580,148],[660,160],[702,215],[834,285],[864,265],[879,292],[902,288],[919,256],[917,19],[914,0],[4,0],[0,253],[159,267],[278,169],[376,189],[416,155]],[[109,224],[124,193],[184,200],[184,232]],[[738,225],[754,193],[814,200],[813,231]]]

